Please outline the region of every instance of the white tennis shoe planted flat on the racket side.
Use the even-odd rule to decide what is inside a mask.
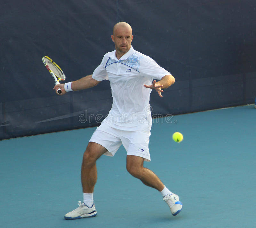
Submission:
[[[84,217],[94,217],[97,215],[97,211],[95,209],[95,205],[93,204],[91,208],[87,207],[84,202],[78,201],[78,208],[68,212],[64,218],[65,219],[79,219]]]

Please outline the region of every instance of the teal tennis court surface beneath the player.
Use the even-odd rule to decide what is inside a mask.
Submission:
[[[126,171],[121,146],[97,162],[98,215],[64,220],[82,200],[82,156],[96,127],[0,141],[0,227],[256,227],[255,117],[246,105],[153,119],[144,165],[180,196],[175,217]]]

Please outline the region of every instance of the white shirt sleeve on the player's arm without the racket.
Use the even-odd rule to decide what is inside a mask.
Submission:
[[[147,78],[161,80],[165,75],[172,75],[163,67],[159,66],[155,60],[149,56],[145,56],[140,61],[140,74]]]

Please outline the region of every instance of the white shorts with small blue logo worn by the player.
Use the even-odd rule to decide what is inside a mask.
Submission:
[[[145,158],[145,161],[150,161],[148,150],[149,136],[151,125],[141,125],[138,131],[120,130],[114,125],[108,124],[105,121],[92,134],[89,142],[96,142],[105,147],[108,151],[104,154],[114,156],[118,148],[123,144],[127,155],[135,155]]]

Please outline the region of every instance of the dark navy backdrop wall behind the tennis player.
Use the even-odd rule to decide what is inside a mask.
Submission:
[[[74,81],[114,50],[113,25],[128,22],[134,49],[170,71],[152,114],[253,103],[255,0],[1,0],[0,139],[99,125],[112,104],[108,81],[55,95],[41,58]]]

